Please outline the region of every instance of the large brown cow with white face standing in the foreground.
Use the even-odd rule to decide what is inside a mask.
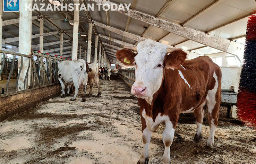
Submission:
[[[125,48],[138,52],[123,49],[116,53],[123,64],[135,66],[136,81],[131,94],[139,101],[144,144],[137,164],[148,163],[151,134],[161,122],[165,122],[162,164],[169,164],[170,146],[180,113],[194,112],[197,122],[194,141],[199,142],[205,104],[210,124],[206,148],[212,149],[221,103],[220,67],[209,57],[185,61],[187,54],[182,49],[171,49],[152,40]]]

